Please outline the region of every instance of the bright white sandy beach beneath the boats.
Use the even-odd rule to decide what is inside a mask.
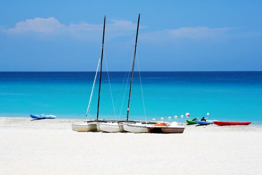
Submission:
[[[182,134],[75,132],[73,120],[0,117],[0,174],[261,174],[262,126]]]

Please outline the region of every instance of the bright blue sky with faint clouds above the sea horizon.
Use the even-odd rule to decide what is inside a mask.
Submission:
[[[261,0],[0,1],[0,71],[262,70]],[[137,66],[136,66],[137,70]]]

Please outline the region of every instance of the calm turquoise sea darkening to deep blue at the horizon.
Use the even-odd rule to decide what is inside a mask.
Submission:
[[[130,81],[127,72],[102,72],[100,118],[125,119]],[[85,118],[95,72],[0,72],[0,116],[54,114]],[[262,71],[141,72],[146,118],[151,120],[190,112],[192,117],[253,121],[262,124]],[[91,105],[96,117],[98,81]],[[123,106],[122,106],[123,102]],[[122,106],[122,111],[121,111]],[[121,114],[120,114],[121,111]],[[139,74],[135,72],[130,120],[145,120]]]

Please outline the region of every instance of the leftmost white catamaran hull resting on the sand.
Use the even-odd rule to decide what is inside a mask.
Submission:
[[[96,131],[96,121],[93,122],[74,122],[72,123],[72,129],[78,132]]]

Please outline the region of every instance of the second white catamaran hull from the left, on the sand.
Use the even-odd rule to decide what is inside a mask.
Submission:
[[[97,129],[102,132],[125,132],[123,123],[118,122],[98,122]]]

